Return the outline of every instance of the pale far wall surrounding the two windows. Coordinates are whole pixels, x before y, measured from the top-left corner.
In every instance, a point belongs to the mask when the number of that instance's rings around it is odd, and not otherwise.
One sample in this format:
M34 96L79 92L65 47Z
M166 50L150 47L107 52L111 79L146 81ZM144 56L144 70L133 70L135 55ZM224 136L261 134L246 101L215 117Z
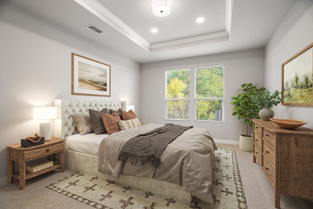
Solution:
M165 70L224 64L224 123L165 120ZM175 123L206 128L214 139L238 143L239 132L245 131L243 120L232 116L230 97L236 96L243 83L264 83L264 49L191 57L141 65L141 121L143 123ZM192 81L191 81L192 82ZM251 133L250 129L250 133Z

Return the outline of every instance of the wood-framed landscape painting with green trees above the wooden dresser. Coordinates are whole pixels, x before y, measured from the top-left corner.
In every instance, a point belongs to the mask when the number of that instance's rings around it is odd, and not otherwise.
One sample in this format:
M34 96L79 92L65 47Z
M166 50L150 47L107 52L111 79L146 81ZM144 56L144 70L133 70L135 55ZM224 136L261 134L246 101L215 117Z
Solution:
M282 105L313 106L313 43L282 64Z

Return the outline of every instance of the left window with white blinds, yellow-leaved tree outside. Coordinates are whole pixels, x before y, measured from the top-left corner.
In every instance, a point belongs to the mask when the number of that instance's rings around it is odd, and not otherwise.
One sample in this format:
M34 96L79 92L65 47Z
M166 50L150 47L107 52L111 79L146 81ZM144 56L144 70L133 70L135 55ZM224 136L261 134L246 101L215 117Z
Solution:
M165 119L189 120L190 70L165 72Z

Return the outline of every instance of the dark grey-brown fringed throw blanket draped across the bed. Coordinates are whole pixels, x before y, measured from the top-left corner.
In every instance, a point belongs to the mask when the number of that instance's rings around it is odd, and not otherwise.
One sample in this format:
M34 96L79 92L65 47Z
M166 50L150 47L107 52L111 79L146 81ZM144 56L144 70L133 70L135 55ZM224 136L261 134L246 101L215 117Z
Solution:
M144 134L129 139L118 155L118 161L131 162L134 165L150 164L156 168L161 166L161 155L167 145L178 138L184 131L193 126L180 126L167 123Z

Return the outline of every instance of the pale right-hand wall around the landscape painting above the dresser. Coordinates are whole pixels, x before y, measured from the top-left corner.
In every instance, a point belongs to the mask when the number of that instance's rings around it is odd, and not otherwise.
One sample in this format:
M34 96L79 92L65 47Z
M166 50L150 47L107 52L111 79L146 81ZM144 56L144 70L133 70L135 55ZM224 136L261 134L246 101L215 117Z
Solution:
M298 0L271 37L265 50L265 87L281 91L281 64L313 42L313 0ZM313 128L313 106L278 105L276 118L301 119Z

